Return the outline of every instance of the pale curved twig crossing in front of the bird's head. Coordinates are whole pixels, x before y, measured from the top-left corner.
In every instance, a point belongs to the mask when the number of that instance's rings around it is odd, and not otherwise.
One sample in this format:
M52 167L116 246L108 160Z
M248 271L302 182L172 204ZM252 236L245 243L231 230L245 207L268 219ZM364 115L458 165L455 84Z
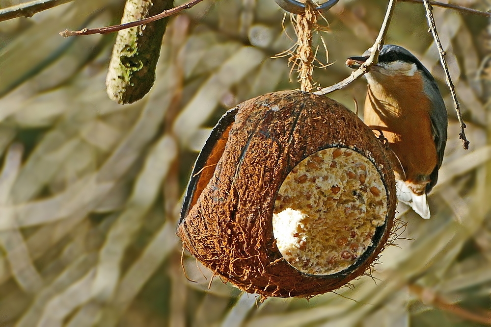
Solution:
M373 46L370 48L370 56L368 59L358 68L353 72L350 76L347 78L343 79L342 81L331 85L327 86L319 91L314 92L315 94L327 94L339 89L342 89L346 87L348 84L352 83L356 79L360 78L361 76L365 75L368 71L370 71L370 68L377 64L379 60L379 53L380 50L382 49L383 42L385 40L385 35L387 34L387 29L390 24L390 20L392 18L392 13L394 12L394 7L395 7L396 0L390 0L389 4L387 6L387 11L385 12L385 17L383 18L383 23L380 28L379 35L377 36L377 39L375 40L375 43Z

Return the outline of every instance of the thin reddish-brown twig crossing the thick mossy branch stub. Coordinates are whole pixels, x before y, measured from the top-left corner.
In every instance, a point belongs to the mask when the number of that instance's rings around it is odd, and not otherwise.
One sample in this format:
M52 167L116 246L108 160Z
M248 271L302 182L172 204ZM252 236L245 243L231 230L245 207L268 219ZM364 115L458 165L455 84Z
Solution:
M145 25L149 24L155 21L158 21L159 19L165 18L172 16L174 14L177 14L184 9L189 9L192 6L198 4L202 0L191 0L189 2L186 2L184 4L181 4L180 6L174 7L169 10L165 10L161 12L158 15L151 16L136 22L130 22L130 23L125 23L125 24L120 24L120 25L112 25L112 26L107 26L107 27L100 27L100 28L83 28L80 31L69 31L65 29L63 32L60 32L60 35L63 37L68 37L68 36L78 36L78 35L90 35L90 34L109 34L109 33L114 33L122 29L126 28L131 28L139 25Z

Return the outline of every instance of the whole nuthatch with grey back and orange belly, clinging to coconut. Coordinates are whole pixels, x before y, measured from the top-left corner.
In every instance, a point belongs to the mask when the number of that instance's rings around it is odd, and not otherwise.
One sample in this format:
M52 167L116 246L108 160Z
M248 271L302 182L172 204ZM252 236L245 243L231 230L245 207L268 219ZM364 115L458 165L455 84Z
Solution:
M356 69L369 55L367 50L348 58L346 65ZM363 121L393 152L397 197L429 219L426 195L436 184L447 141L447 110L435 78L413 54L394 45L382 47L379 62L365 76Z

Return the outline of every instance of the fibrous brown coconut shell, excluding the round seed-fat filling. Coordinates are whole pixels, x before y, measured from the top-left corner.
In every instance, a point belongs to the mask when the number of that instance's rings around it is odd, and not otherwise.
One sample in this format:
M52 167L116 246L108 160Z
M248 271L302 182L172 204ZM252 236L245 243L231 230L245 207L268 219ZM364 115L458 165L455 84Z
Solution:
M266 297L311 297L362 275L385 246L397 204L390 162L372 130L340 103L300 91L247 100L227 117L195 167L177 231L183 246L223 280ZM388 214L363 262L335 276L313 276L300 273L278 251L273 207L290 171L330 147L355 149L376 163Z

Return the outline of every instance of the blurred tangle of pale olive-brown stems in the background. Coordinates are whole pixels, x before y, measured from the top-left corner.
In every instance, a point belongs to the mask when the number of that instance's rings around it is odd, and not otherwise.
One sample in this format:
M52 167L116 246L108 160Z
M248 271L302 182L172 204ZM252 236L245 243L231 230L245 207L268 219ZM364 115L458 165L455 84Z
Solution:
M182 2L176 2L180 4ZM0 0L0 8L22 1ZM487 10L489 0L454 0ZM387 1L341 0L326 18L314 80L348 74L373 43ZM483 326L491 324L491 25L436 8L470 150L443 81L422 5L399 2L386 43L436 76L450 116L432 218L407 223L372 277L336 293L259 303L184 255L175 235L198 151L237 103L298 87L294 32L273 0L204 0L172 17L151 92L110 101L114 35L58 32L117 24L123 0L75 0L0 23L0 326ZM319 36L314 37L320 45ZM330 96L354 110L365 83ZM361 114L361 113L360 113Z

